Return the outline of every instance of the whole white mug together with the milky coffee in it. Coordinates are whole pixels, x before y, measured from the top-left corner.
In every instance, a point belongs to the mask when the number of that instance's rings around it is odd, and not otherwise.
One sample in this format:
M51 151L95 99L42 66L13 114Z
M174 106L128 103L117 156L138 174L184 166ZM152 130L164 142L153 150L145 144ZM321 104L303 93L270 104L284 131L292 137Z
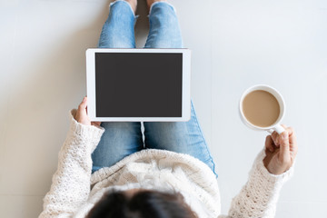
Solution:
M276 131L284 129L280 122L285 113L282 95L269 85L257 84L247 89L240 100L243 123L256 130Z

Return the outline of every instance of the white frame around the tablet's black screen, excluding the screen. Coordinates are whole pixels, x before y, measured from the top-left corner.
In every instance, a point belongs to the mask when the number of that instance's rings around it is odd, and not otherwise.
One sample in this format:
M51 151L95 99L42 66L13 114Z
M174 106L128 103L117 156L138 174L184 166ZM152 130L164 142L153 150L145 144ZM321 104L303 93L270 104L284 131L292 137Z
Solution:
M176 53L183 54L182 117L96 117L95 115L95 53ZM189 49L113 49L86 50L87 114L97 122L185 122L191 118L191 50Z

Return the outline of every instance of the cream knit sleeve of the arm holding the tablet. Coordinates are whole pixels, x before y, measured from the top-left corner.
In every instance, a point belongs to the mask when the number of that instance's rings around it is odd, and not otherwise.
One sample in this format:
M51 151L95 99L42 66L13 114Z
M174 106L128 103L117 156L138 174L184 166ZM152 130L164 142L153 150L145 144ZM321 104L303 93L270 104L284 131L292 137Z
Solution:
M90 193L91 154L104 129L79 124L71 111L69 132L58 155L51 189L45 195L43 217L71 217Z

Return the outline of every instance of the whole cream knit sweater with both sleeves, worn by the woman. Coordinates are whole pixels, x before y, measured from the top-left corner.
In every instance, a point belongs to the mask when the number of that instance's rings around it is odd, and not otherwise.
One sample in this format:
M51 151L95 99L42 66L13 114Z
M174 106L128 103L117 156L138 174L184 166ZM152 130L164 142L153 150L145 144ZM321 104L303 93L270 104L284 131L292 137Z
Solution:
M77 123L74 113L41 218L85 217L105 192L134 188L180 192L201 218L274 217L282 184L293 171L292 167L286 173L272 175L263 165L264 153L260 153L248 182L224 216L215 175L205 163L187 154L147 149L91 174L91 154L104 129Z

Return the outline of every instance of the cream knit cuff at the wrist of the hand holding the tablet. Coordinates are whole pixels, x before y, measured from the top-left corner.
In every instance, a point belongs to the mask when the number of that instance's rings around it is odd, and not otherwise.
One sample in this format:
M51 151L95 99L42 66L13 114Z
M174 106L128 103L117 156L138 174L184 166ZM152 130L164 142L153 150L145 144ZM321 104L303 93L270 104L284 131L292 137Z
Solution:
M101 126L97 127L94 125L85 125L78 123L74 119L76 111L76 109L73 109L69 112L71 119L70 132L71 134L76 135L81 140L93 144L92 151L94 151L96 145L100 142L102 134L104 134L104 128Z

